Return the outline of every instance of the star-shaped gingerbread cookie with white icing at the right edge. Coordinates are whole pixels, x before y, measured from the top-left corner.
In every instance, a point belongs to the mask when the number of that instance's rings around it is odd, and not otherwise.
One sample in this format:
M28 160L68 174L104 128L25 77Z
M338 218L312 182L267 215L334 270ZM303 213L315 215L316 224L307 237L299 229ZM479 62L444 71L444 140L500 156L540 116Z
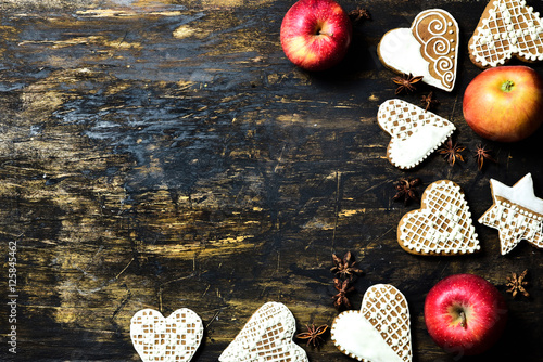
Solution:
M479 222L500 231L501 253L509 253L521 240L543 248L543 199L535 197L531 173L512 188L490 180L494 204Z

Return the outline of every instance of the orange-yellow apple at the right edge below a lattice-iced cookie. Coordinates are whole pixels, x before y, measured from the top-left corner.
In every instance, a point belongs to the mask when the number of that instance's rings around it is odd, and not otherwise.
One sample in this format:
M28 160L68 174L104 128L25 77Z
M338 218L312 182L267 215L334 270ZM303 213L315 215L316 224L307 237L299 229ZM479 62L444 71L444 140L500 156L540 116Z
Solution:
M463 108L469 127L482 138L520 141L543 122L543 79L522 65L487 69L466 88Z

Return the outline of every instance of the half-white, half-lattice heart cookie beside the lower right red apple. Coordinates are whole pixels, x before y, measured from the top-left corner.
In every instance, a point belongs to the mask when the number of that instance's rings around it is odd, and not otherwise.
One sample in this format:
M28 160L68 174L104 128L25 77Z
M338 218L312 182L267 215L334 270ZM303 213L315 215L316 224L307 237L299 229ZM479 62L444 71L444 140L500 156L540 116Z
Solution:
M409 362L413 358L407 300L390 284L369 287L361 310L339 314L330 333L336 347L358 361Z

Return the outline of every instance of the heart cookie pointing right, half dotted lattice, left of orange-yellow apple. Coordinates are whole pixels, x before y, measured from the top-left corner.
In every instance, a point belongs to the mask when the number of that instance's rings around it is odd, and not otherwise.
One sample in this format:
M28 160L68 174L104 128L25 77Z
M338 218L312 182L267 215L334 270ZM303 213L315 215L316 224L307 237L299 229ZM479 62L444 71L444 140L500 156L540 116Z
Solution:
M402 169L420 164L455 130L445 118L397 99L379 106L377 120L391 135L387 148L389 160Z

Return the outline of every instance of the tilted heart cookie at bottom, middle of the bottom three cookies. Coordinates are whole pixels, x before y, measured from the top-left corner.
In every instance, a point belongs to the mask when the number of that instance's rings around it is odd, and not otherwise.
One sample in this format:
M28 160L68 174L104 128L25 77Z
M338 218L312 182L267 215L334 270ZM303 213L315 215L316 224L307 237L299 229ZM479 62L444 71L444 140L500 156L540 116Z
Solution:
M295 320L279 302L262 306L223 351L220 362L307 362L305 351L292 341Z

